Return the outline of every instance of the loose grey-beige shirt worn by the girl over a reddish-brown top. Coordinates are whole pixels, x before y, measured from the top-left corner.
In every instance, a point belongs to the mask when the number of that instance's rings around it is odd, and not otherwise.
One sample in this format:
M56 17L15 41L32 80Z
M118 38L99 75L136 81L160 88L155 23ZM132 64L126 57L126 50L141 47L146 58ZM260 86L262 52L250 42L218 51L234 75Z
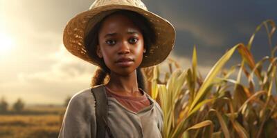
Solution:
M145 95L151 105L137 113L128 110L113 97L108 97L107 124L114 138L161 137L163 112L156 101L146 92ZM73 95L66 108L59 138L90 138L91 135L96 138L95 110L90 88Z

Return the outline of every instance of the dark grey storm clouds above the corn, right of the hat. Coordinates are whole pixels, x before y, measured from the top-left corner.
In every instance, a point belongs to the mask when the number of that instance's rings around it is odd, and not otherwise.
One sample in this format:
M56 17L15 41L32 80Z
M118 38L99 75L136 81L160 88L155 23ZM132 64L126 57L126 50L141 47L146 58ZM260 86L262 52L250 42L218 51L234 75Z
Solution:
M277 1L145 1L148 9L177 28L174 52L192 56L197 45L200 64L211 65L235 44L247 43L262 21L277 21ZM269 55L267 35L261 30L251 50L256 60ZM235 61L239 55L233 57Z

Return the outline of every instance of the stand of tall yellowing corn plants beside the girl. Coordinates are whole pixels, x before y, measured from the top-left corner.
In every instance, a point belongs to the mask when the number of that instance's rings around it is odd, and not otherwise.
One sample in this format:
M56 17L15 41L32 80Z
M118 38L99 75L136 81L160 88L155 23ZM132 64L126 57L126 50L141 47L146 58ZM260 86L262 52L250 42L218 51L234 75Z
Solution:
M256 62L251 46L262 27L267 31L271 55ZM274 21L262 22L249 43L228 50L205 79L197 70L196 48L191 68L182 70L170 59L170 71L163 73L163 80L159 66L145 68L150 95L163 110L163 137L277 137L277 98L272 95L274 86L277 91L277 46L271 42L275 30ZM224 68L235 51L240 53L241 63ZM247 78L247 85L242 77Z

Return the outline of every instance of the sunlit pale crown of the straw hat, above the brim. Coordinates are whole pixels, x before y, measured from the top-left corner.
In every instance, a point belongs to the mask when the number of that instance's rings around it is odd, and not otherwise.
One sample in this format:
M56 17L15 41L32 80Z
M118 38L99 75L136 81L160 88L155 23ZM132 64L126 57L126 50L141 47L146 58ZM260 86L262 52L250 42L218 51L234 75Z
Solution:
M143 10L148 10L141 0L96 0L91 4L89 10L110 5L134 6Z

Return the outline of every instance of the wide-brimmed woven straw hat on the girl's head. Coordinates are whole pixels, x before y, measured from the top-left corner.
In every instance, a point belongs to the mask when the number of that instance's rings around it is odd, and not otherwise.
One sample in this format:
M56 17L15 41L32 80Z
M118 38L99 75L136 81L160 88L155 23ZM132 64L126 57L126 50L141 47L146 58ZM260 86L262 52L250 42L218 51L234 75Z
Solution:
M84 59L96 66L100 61L91 59L84 46L84 38L91 28L108 14L116 10L131 10L143 15L150 22L156 35L156 42L150 46L150 50L143 56L141 67L154 66L161 63L172 50L175 43L175 28L172 24L149 12L141 0L96 0L89 10L77 14L67 23L64 29L64 46L73 55Z

